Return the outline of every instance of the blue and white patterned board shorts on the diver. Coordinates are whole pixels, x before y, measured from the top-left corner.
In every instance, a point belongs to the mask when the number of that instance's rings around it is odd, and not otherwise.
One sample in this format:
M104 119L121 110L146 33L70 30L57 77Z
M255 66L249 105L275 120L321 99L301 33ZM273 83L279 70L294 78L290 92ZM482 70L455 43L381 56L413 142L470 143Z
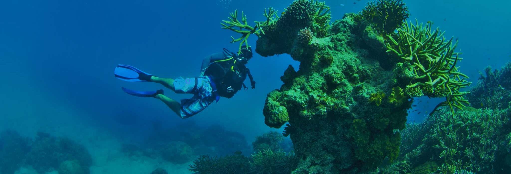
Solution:
M179 77L174 80L174 89L176 93L194 94L190 99L181 100L181 118L191 117L215 101L210 79L207 77Z

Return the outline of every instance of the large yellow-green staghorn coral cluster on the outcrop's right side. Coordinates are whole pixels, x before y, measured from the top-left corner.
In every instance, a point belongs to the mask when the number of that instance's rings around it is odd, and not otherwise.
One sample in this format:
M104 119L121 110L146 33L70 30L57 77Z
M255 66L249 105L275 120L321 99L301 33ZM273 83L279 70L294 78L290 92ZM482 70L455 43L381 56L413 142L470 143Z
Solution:
M461 60L455 53L457 41L452 45L453 38L446 42L444 32L437 28L431 31L431 24L412 24L405 21L396 34L387 35L387 53L409 62L415 78L407 85L405 91L410 96L446 97L446 102L439 106L462 109L467 100L460 89L470 85L465 79L468 76L459 72L456 63Z

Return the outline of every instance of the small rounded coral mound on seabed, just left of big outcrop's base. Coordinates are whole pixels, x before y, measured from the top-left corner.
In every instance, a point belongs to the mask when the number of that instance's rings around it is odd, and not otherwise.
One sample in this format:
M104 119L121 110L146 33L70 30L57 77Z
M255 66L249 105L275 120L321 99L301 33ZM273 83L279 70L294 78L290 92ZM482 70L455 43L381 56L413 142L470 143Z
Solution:
M284 141L284 136L282 136L282 134L271 131L255 137L255 141L252 142L252 148L254 152L260 152L263 150L277 152L282 149L282 141Z

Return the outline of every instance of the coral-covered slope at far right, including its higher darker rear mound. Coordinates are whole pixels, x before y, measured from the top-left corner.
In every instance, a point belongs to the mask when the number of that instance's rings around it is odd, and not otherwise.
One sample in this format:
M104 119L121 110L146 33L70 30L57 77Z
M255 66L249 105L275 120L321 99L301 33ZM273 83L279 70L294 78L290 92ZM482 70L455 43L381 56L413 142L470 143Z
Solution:
M400 159L413 173L507 173L511 170L511 107L504 88L511 63L485 69L468 94L474 107L444 108L401 131ZM502 96L504 94L504 96ZM508 96L508 95L507 95Z

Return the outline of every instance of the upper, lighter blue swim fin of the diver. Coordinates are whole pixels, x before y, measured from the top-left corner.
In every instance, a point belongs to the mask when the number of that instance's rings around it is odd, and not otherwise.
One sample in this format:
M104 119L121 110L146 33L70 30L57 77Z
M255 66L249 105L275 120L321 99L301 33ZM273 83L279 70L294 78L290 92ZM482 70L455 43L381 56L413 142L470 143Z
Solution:
M149 82L151 81L150 73L144 72L130 65L119 64L113 70L115 78L128 82Z

